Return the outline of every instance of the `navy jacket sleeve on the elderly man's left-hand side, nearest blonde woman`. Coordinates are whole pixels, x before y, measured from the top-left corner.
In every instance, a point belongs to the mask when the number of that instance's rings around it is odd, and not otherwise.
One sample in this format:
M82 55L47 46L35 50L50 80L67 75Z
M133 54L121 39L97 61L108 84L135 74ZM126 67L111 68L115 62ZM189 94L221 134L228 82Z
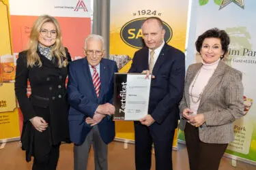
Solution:
M98 107L98 103L91 102L87 96L82 95L79 92L78 82L80 80L77 77L79 74L76 73L75 67L76 65L71 64L68 71L68 101L71 107L79 110L79 112L85 114L85 116L93 118Z

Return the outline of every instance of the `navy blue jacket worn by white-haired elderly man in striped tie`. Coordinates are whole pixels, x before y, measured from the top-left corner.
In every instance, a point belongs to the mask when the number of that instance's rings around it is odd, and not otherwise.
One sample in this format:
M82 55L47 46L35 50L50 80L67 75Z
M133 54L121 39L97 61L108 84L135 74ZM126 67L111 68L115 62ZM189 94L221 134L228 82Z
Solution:
M113 103L114 75L117 72L115 61L102 58L100 61L100 97L97 98L89 71L87 58L72 62L68 74L68 101L70 102L69 122L70 139L76 144L82 144L91 130L85 122L88 116L93 118L98 105ZM98 124L100 136L105 143L115 137L115 123L105 117Z

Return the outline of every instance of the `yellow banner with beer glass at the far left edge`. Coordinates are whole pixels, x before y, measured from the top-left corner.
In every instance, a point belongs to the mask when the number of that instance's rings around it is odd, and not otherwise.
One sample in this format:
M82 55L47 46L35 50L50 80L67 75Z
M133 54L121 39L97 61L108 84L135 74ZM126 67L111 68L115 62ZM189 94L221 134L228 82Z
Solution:
M0 141L20 136L14 92L15 66L7 0L0 1Z

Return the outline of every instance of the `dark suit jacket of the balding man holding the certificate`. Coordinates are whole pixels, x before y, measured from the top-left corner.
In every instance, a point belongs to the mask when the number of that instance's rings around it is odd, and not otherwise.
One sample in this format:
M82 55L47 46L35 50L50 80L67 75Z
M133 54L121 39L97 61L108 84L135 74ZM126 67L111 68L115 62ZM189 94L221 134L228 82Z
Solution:
M129 73L141 73L149 69L149 50L135 52ZM184 53L172 46L163 46L154 65L150 88L149 114L156 120L155 129L175 129L180 119L178 105L182 99L185 77Z

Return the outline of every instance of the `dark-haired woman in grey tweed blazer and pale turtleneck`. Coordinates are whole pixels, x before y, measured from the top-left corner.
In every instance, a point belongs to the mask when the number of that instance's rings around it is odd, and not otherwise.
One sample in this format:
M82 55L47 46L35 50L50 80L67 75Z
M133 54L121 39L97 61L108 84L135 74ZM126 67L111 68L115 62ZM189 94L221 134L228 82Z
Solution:
M190 169L216 170L227 144L233 141L232 122L244 115L242 73L223 63L229 36L210 29L195 43L202 62L186 72L180 103Z

